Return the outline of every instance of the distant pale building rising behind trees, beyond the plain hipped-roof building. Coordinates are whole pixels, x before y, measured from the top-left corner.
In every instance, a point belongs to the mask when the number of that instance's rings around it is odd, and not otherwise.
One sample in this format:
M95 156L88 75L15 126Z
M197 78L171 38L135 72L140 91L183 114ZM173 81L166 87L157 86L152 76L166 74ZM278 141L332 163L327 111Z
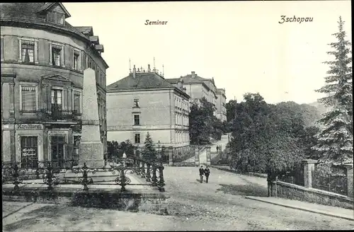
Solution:
M225 105L222 104L226 102L225 90L221 88L218 89L215 86L213 78L205 79L198 76L198 74L195 74L195 71L192 71L191 74L181 76L179 79L166 79L166 81L169 81L169 83L174 85L177 85L179 80L183 81L185 91L190 95L190 102L206 98L207 101L212 103L215 107L214 115L220 120L226 120L226 116L222 116L223 112L225 112L226 115Z

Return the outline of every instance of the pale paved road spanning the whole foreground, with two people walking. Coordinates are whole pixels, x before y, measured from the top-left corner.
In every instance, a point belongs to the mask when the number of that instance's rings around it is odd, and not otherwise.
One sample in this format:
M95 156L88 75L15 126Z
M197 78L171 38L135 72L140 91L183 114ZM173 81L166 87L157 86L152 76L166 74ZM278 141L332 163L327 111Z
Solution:
M266 196L264 178L211 168L210 182L198 182L198 168L164 170L169 216L55 204L30 204L9 216L3 202L3 231L192 231L343 230L354 222L244 199ZM3 216L3 217L4 217Z

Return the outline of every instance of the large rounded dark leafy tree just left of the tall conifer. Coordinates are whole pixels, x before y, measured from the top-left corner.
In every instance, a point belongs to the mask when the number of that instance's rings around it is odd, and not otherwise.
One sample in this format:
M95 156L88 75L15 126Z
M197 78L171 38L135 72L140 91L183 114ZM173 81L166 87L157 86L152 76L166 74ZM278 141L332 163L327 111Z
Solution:
M281 173L312 155L316 127L305 127L301 105L272 105L259 93L246 93L236 108L228 144L232 166L243 172Z

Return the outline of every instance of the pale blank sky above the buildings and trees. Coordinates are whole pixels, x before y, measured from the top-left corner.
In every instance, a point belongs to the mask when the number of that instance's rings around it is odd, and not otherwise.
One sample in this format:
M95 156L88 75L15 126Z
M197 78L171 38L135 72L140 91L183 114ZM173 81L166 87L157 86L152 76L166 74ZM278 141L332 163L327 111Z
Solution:
M324 85L328 45L336 42L339 16L351 42L350 1L198 1L63 3L67 22L93 27L110 66L107 84L135 64L164 77L214 78L227 101L260 93L267 103L313 103ZM285 18L312 18L282 22ZM146 21L166 25L145 25ZM131 60L131 62L130 62Z

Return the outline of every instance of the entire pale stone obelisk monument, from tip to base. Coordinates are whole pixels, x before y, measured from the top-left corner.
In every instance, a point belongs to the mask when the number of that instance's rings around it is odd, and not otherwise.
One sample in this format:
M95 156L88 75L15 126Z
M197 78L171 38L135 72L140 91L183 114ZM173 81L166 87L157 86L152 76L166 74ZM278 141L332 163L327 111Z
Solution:
M84 70L84 86L82 92L82 130L79 153L79 166L103 168L103 144L100 133L96 75L93 69Z

